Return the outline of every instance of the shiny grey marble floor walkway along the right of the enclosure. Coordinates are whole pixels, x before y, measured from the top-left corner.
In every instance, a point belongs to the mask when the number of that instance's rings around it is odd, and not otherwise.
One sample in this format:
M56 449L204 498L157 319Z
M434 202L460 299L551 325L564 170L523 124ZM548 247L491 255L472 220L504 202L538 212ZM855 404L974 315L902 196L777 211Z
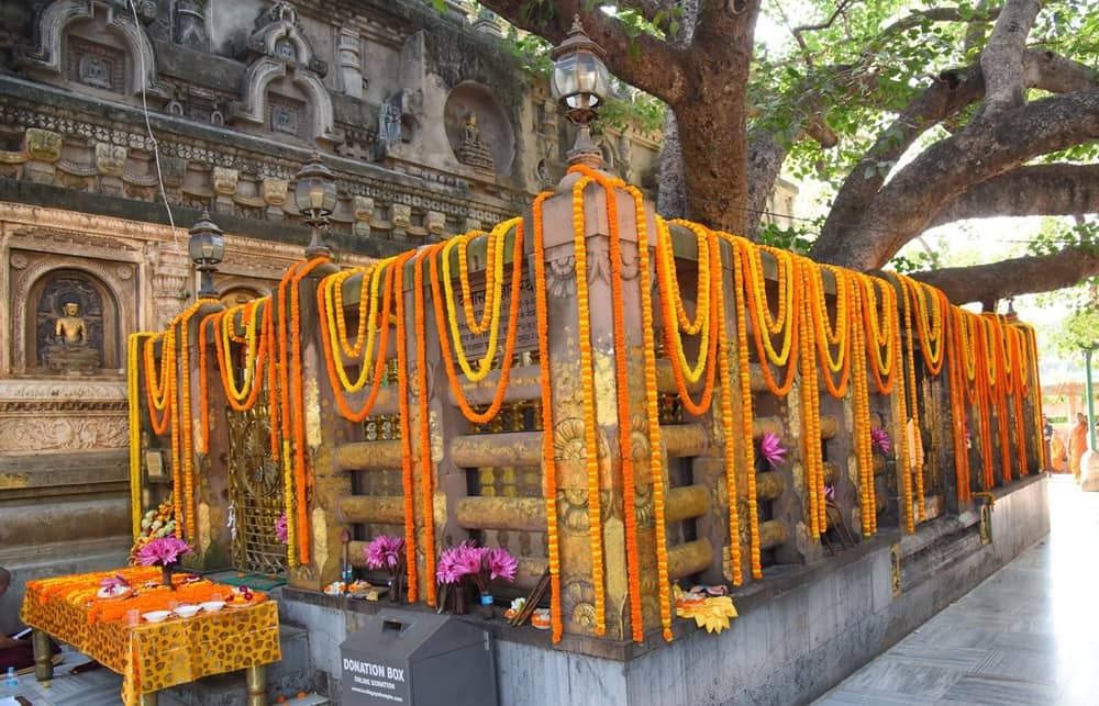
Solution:
M1048 537L819 706L1099 706L1099 493L1050 484Z

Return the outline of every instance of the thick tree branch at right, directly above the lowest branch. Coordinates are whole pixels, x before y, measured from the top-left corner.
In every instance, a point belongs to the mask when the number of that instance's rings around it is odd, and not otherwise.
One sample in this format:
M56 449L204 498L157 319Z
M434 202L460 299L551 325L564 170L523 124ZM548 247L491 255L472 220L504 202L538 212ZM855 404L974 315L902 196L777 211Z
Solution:
M1099 165L1019 167L969 189L929 227L993 216L1099 213Z

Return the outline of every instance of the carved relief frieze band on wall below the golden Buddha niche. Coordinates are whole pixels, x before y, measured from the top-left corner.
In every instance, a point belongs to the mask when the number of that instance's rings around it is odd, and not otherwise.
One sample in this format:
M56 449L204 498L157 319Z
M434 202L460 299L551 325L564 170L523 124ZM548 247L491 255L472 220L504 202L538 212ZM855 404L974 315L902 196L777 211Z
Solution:
M129 440L124 415L0 419L0 447L7 452L123 448Z

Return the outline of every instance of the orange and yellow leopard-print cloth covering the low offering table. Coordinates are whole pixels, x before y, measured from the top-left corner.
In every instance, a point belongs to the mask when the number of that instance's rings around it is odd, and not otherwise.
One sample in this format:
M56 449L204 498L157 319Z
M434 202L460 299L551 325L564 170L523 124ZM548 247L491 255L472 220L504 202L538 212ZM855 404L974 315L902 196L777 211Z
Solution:
M96 598L100 579L122 574L138 591L144 581L159 579L159 568L134 568L93 574L27 582L21 618L26 625L68 642L108 669L122 674L122 701L137 703L142 693L155 692L202 676L258 666L282 658L278 641L278 604L253 592L245 608L223 608L191 618L126 625L125 616L89 618L106 603L124 605L134 598ZM178 583L178 581L176 582ZM209 584L209 582L206 582ZM217 584L213 584L217 585ZM224 594L232 586L221 586ZM89 593L90 591L90 593ZM187 587L163 593L169 601L186 595ZM153 609L145 607L144 610Z

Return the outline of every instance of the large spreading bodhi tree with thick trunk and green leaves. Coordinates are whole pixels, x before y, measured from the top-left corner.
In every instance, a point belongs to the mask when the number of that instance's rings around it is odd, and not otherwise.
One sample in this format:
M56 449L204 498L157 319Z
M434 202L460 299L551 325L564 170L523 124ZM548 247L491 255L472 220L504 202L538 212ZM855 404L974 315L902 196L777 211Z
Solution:
M966 218L1064 215L1089 226L1099 1L942 1L480 3L555 44L579 15L608 68L670 109L665 215L757 238L779 172L812 175L832 199L810 255L859 270ZM758 41L761 12L792 38L785 48ZM1099 274L1094 232L914 276L958 303L1058 289Z

